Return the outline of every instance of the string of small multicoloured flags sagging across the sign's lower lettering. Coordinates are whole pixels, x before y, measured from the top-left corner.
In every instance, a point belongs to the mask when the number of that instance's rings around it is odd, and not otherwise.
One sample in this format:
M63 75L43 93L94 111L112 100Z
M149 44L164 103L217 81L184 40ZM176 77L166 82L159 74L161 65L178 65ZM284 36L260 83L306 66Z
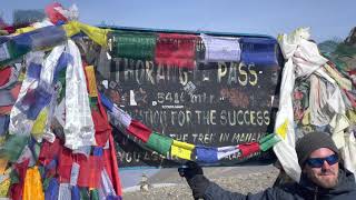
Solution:
M116 114L112 114L113 119L110 118L111 122L118 120L122 123L122 116L126 116L126 119L131 120L129 114L113 106L112 102L109 99L107 99L103 93L100 93L100 96L102 97L102 99L106 99L106 107L111 108L112 111L110 111L110 113L116 112ZM174 140L167 136L162 136L155 131L151 132L149 128L147 128L138 120L131 120L131 123L129 124L129 128L127 128L127 131L132 136L139 138L141 141L144 141L145 146L148 149L157 151L161 156L167 156L167 152L170 148L171 157L178 157L186 160L197 160L198 162L206 163L217 162L218 160L237 153L239 151L241 153L241 158L245 158L260 150L267 151L275 143L280 141L280 139L274 133L267 134L259 142L250 142L239 146L228 146L219 148L204 146L196 147L191 143Z

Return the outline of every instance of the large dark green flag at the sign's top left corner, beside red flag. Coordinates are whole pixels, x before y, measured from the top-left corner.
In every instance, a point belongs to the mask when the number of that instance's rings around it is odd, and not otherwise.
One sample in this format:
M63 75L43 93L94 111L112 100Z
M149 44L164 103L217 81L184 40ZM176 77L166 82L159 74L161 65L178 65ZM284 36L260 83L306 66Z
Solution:
M145 32L112 32L112 56L137 60L154 60L157 36Z

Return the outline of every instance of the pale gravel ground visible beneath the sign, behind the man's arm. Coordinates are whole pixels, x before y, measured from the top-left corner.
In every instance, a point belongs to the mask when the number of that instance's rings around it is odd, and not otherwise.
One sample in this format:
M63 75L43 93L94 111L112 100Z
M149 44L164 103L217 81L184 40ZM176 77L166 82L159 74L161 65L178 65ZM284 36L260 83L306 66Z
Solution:
M229 191L238 191L245 194L248 192L255 193L271 187L278 176L278 170L270 166L255 168L205 168L204 171L210 181L218 183ZM159 173L148 180L151 186L148 191L140 191L139 189L136 191L123 190L123 199L192 199L191 190L186 180L176 174L176 169Z

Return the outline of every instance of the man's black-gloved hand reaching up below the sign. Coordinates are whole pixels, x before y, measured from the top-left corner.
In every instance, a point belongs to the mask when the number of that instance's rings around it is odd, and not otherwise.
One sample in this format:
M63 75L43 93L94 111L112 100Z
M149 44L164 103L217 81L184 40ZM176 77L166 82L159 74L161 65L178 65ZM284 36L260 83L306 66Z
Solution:
M202 169L196 162L188 161L185 168L178 169L179 174L185 177L195 199L204 198L204 193L209 186L209 180L204 177Z

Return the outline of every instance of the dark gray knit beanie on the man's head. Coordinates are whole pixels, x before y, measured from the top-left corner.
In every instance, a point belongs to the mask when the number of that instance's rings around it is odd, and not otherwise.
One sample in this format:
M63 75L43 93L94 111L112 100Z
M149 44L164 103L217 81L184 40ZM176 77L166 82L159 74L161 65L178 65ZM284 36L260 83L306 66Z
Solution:
M339 154L335 142L327 132L310 132L296 143L299 166L303 168L310 153L319 148L328 148Z

